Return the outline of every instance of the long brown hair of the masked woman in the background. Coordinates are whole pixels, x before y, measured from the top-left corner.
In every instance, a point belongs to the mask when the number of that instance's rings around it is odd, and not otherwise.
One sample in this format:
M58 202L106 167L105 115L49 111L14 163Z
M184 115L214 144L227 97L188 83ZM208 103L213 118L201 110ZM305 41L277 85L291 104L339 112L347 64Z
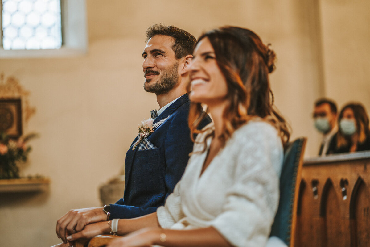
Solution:
M367 116L365 107L361 103L351 102L343 106L338 117L338 126L340 120L343 119L344 110L347 108L352 109L354 118L356 121L357 130L356 133L359 135L359 143L364 143L370 138L370 128L369 128L369 117ZM348 146L351 143L351 136L346 136L343 134L342 130L338 130L337 134L337 148Z

